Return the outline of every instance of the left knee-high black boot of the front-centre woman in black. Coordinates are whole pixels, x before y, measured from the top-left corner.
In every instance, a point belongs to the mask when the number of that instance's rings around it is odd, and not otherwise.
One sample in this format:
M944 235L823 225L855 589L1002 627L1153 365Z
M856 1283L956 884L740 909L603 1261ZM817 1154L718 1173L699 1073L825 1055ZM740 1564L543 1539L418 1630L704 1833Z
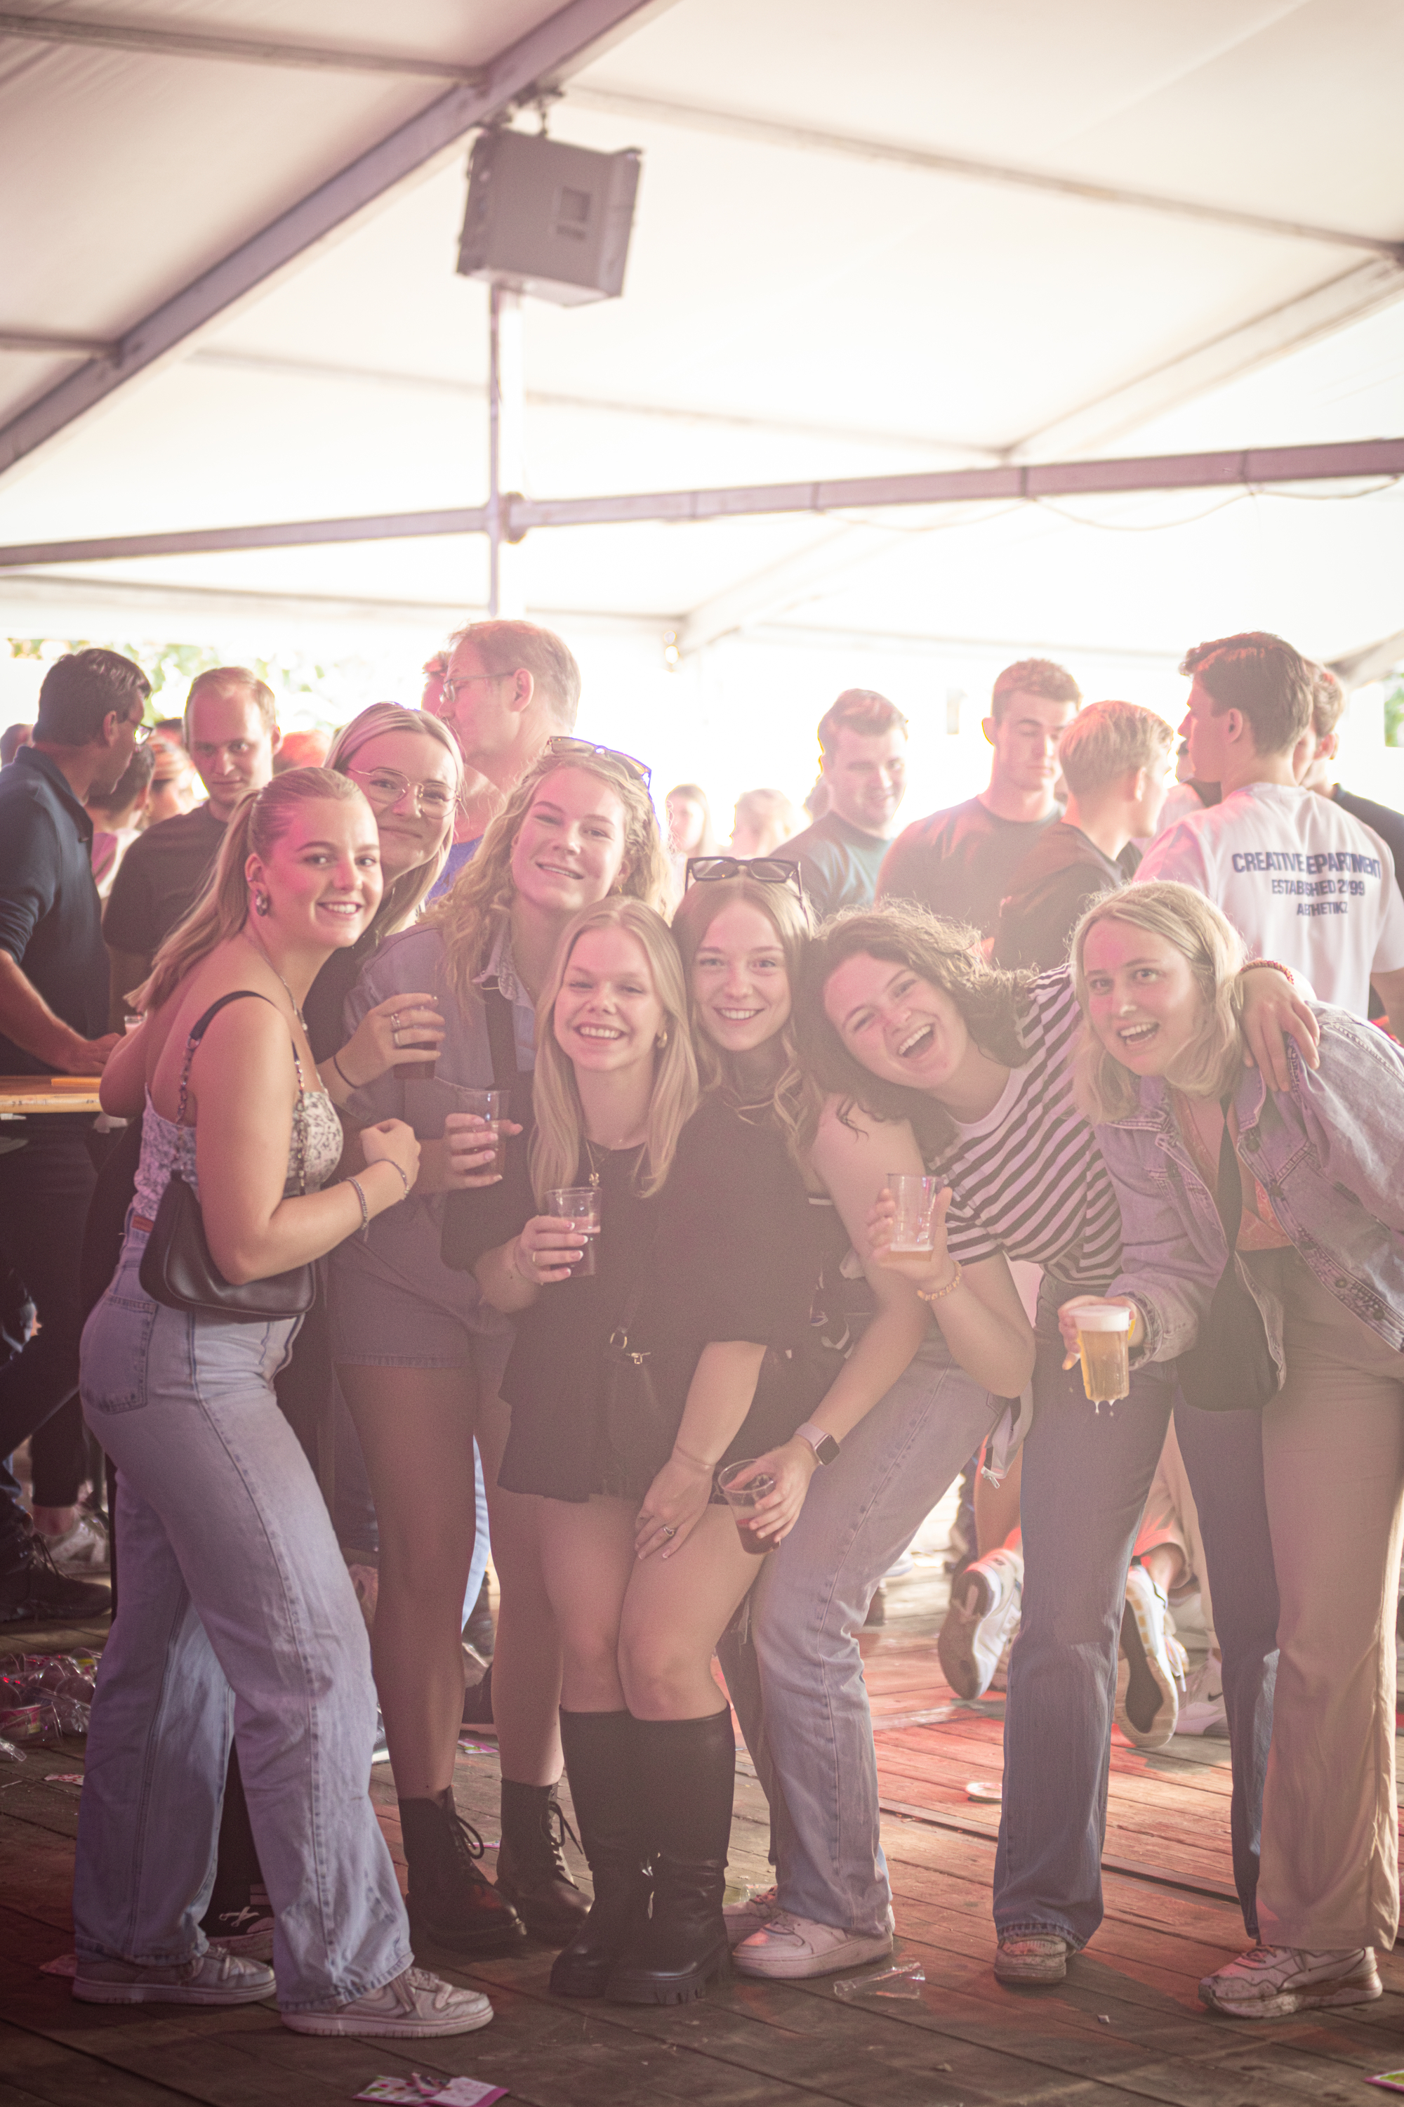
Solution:
M629 1713L560 1715L570 1799L596 1898L585 1924L556 1955L558 1997L602 1997L623 1947L648 1917L638 1721Z

